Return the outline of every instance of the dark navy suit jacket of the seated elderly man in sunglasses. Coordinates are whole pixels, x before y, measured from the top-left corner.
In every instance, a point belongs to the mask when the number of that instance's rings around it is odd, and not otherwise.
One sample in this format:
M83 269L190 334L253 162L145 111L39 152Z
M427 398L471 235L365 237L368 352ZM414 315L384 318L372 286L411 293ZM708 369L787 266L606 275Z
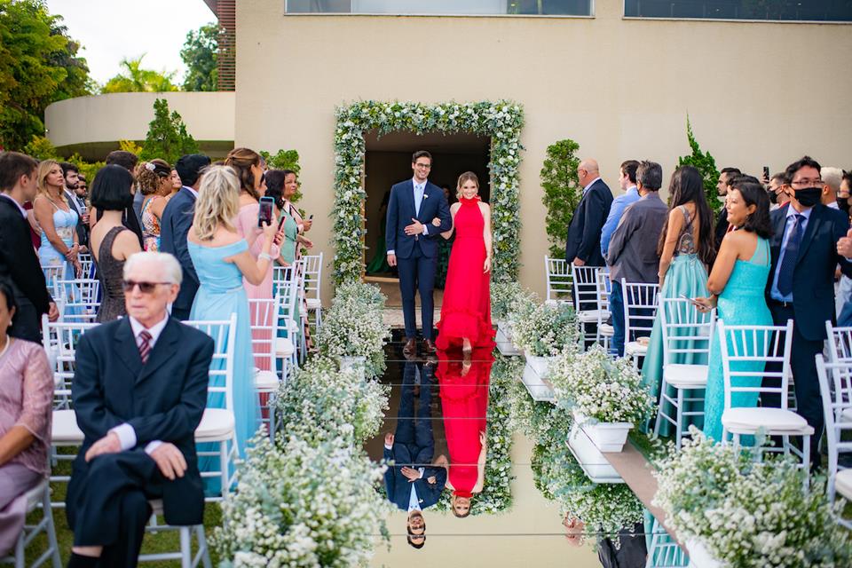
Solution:
M184 454L184 477L162 477L162 505L170 525L198 525L204 490L195 454L195 429L207 404L213 340L203 332L169 319L145 365L139 358L130 319L94 327L80 339L71 396L77 425L85 439L74 461L67 506L75 509L90 464L91 445L127 422L144 452L154 440L170 442ZM97 460L97 458L95 458ZM69 510L73 516L73 510Z

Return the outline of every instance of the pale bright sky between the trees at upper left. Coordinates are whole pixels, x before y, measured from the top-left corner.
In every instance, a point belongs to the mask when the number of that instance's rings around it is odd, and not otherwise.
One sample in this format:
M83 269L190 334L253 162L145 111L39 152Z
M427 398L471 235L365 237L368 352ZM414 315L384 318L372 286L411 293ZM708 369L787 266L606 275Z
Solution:
M47 0L47 6L82 43L79 55L100 84L121 72L122 59L143 53L143 67L177 71L175 82L181 83L186 34L216 20L203 0Z

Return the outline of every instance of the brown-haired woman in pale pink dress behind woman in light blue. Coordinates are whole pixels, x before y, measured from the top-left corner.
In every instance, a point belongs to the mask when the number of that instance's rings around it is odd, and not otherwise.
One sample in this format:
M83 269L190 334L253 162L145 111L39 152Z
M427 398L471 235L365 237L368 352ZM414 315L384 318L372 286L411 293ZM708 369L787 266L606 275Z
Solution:
M260 154L248 148L234 148L225 158L225 165L231 166L237 172L237 177L240 178L240 212L233 219L233 226L236 227L237 233L248 242L248 250L251 255L258 258L263 254L264 240L257 237L263 234L263 229L257 226L257 211L260 209L260 196L264 193L264 167ZM272 245L272 258L278 258L280 251L278 244L280 243L281 235L275 238L275 244ZM257 286L251 284L245 278L242 279L242 285L246 288L246 296L249 303L251 300L271 300L272 299L272 263L269 264L269 270L266 272L264 281ZM256 326L272 325L272 311L265 314L251 310L251 337L253 341L271 339L269 332L263 329L255 329ZM265 317L264 316L268 316ZM271 349L272 343L261 343L264 349ZM270 353L258 352L260 345L253 347L255 355L255 367L262 371L274 371L270 368Z

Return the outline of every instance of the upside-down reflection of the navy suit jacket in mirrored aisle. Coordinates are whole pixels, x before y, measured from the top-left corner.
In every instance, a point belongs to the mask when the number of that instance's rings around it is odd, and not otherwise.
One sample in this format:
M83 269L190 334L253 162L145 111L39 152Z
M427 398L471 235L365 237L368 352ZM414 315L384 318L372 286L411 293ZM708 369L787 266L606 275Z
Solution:
M412 455L411 449L399 443L395 443L392 450L384 448L384 459L394 461L394 465L388 466L384 472L384 488L388 492L388 500L404 511L408 510L408 501L411 499L411 485L414 485L414 490L417 492L421 509L437 503L446 485L446 468L429 465L432 454L435 452L434 446L421 448L419 454L415 455ZM422 467L423 477L408 481L408 478L402 475L402 466L414 467L414 469ZM435 476L433 484L428 481L432 476Z

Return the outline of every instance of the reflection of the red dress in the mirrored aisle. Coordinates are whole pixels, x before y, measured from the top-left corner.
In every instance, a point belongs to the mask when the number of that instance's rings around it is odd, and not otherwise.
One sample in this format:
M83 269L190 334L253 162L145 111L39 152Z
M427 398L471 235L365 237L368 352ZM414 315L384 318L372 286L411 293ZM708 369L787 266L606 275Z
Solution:
M478 360L477 360L478 359ZM450 467L447 477L454 493L469 497L477 485L477 462L482 451L479 432L487 428L488 381L493 358L488 350L477 350L467 375L461 376L461 361L449 361L438 351L438 385L444 413L446 447Z

